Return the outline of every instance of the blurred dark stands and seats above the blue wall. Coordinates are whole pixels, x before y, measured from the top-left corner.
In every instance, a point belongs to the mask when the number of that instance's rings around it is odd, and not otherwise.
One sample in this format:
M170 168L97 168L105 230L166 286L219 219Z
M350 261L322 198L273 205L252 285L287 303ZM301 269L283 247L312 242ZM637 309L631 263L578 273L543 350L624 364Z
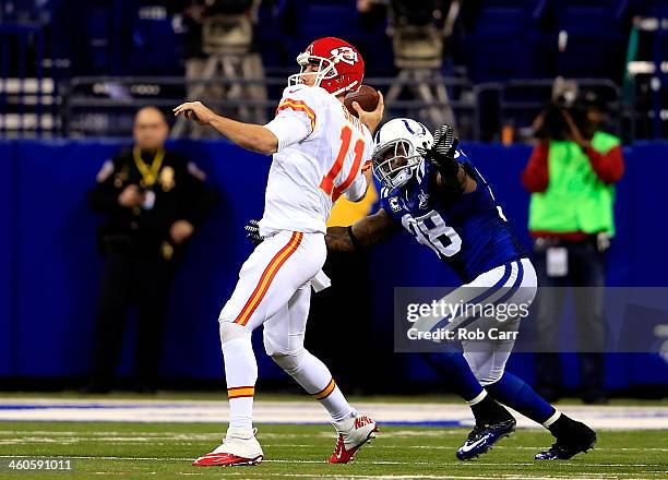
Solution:
M526 141L562 75L598 92L624 141L655 139L668 121L667 11L664 0L4 0L0 131L126 135L132 108L183 97L261 121L326 26L359 47L391 115Z

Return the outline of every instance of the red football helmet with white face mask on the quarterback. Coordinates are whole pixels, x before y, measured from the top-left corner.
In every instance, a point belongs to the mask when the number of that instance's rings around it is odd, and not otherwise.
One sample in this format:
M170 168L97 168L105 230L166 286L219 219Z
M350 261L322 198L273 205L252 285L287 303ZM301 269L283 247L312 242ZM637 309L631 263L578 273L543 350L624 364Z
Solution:
M315 75L314 85L332 95L359 89L365 77L365 61L357 48L336 37L314 40L297 56L297 63L301 70L289 76L290 85L302 83L305 75ZM318 67L318 70L306 72L309 65Z

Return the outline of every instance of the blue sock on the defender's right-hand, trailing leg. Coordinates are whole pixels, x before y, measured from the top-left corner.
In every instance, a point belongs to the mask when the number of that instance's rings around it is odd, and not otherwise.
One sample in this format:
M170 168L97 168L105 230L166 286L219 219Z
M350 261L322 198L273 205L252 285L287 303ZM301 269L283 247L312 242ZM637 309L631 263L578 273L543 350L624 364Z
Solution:
M491 385L485 387L496 399L517 410L523 416L535 422L544 424L550 419L557 409L548 404L524 380L503 372L503 376Z

